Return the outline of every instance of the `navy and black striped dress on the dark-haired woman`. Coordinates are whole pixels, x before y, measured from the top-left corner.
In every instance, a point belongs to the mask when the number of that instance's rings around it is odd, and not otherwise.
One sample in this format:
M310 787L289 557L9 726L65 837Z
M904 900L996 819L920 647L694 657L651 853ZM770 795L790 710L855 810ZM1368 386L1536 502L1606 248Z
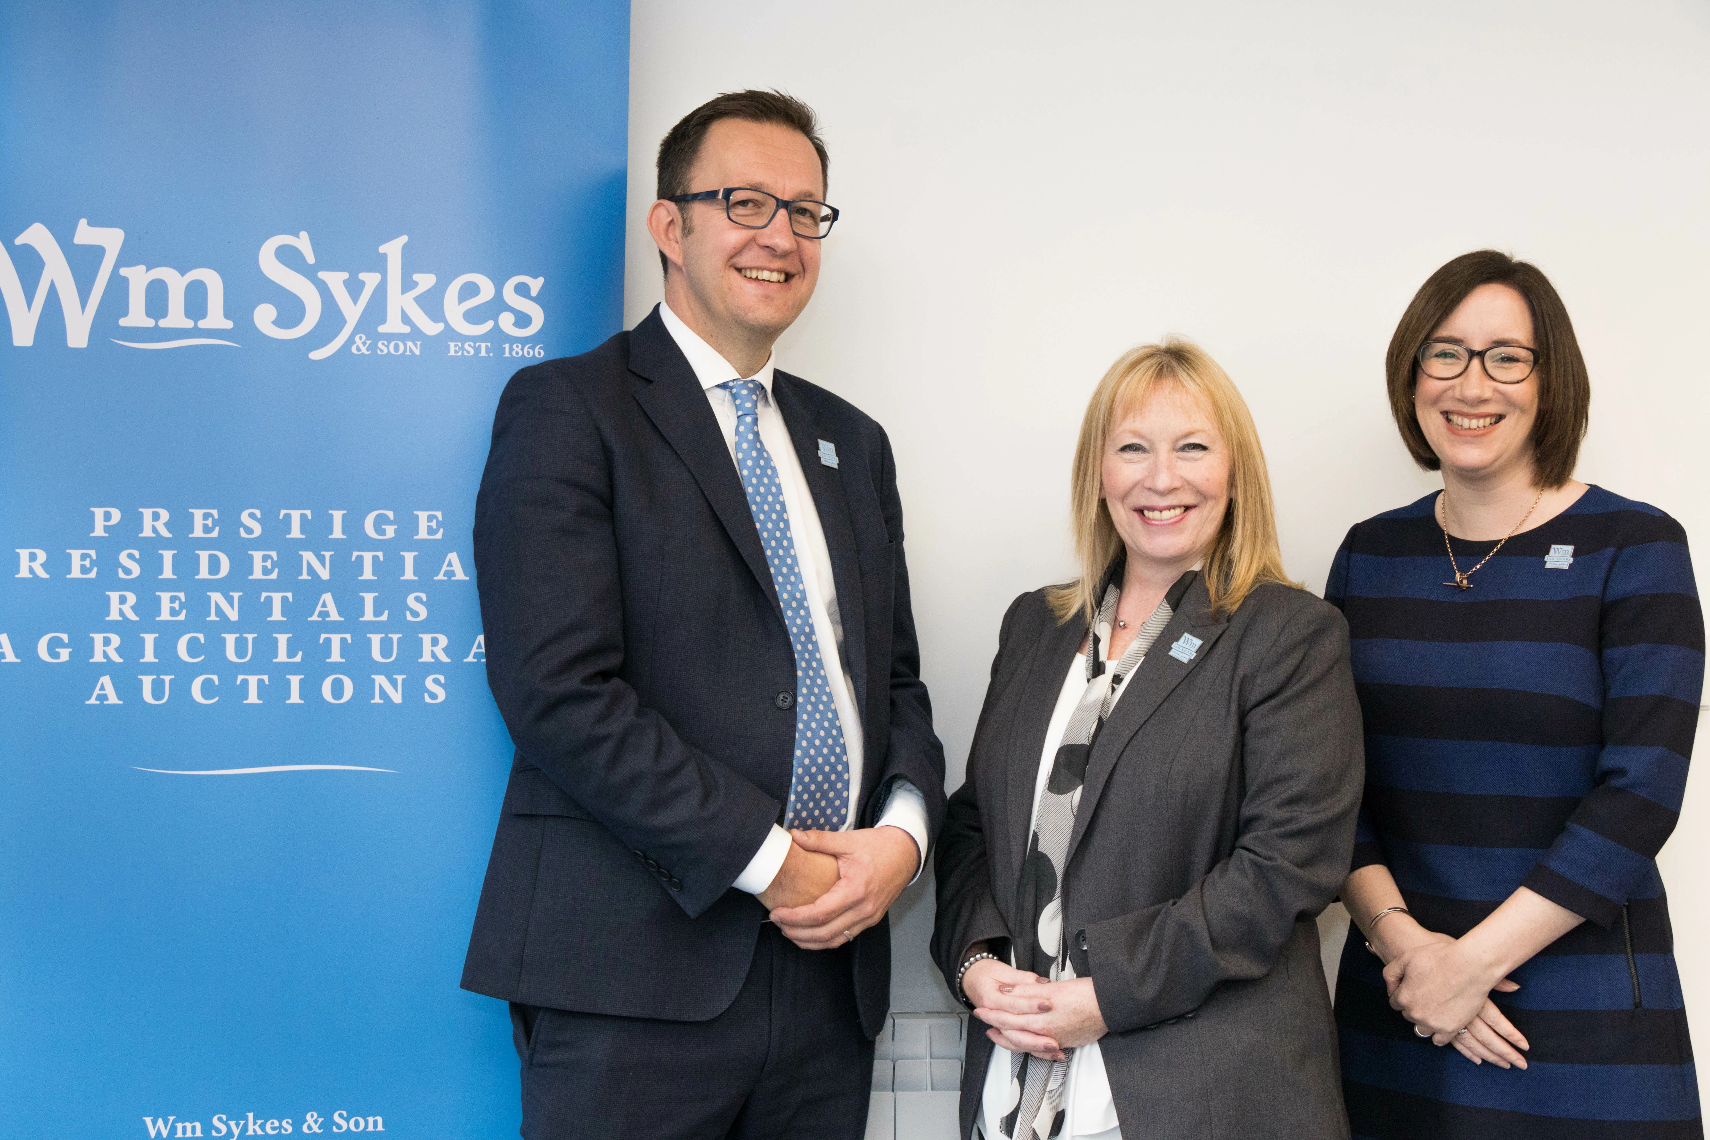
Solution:
M1359 523L1325 598L1366 728L1354 868L1462 935L1525 885L1585 923L1493 1000L1529 1070L1414 1037L1358 931L1336 986L1342 1089L1370 1140L1703 1137L1655 855L1686 788L1703 615L1686 533L1601 487L1454 581L1436 494ZM1462 569L1495 542L1455 540Z

